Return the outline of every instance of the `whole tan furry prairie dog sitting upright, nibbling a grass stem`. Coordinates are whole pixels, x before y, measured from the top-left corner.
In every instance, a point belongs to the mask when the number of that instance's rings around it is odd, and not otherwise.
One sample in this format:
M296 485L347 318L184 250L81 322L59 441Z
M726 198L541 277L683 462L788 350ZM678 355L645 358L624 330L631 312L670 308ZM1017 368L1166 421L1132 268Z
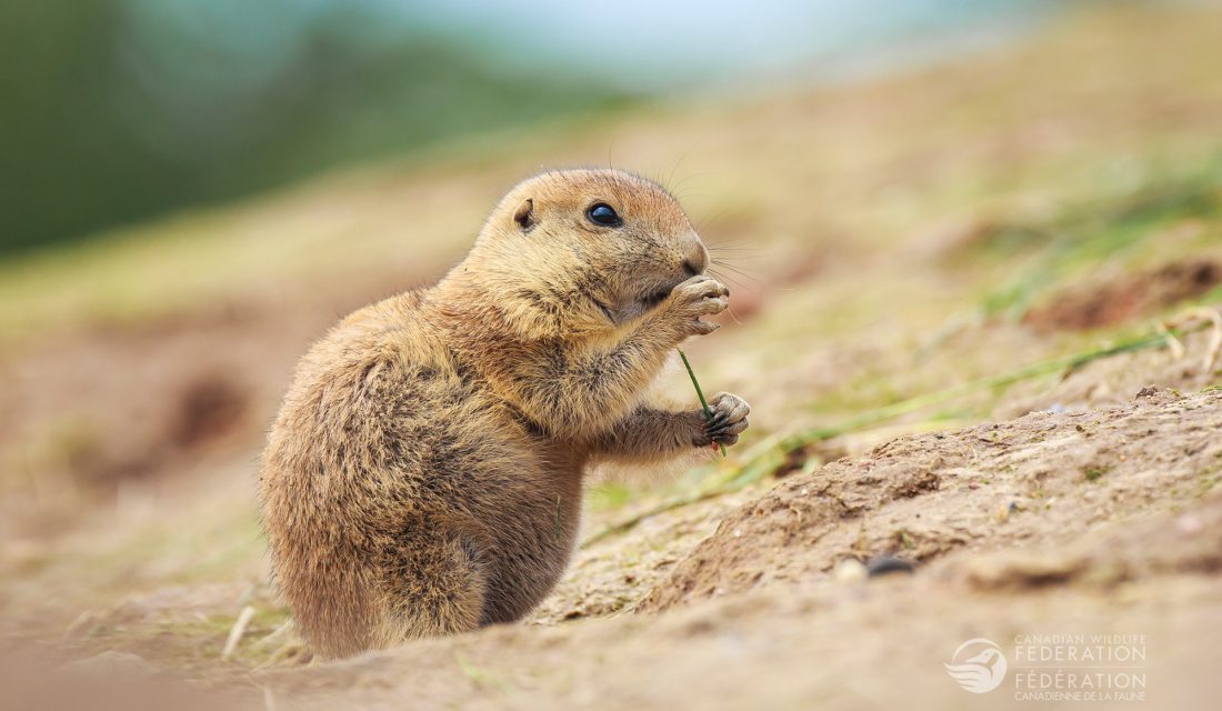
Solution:
M606 203L623 225L593 224ZM521 618L563 572L583 470L747 428L643 397L728 291L676 200L620 171L514 187L435 287L356 312L297 368L260 480L281 590L323 656Z

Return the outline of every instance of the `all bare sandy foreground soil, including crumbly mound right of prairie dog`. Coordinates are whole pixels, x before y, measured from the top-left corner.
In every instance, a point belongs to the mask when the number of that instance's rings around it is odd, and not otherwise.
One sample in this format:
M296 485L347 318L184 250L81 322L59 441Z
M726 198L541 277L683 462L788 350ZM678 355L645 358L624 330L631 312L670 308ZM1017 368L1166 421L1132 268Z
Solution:
M426 709L1002 707L1024 704L1020 689L976 698L946 677L959 643L984 636L1009 650L1018 635L1110 634L1141 636L1149 702L1202 707L1218 691L1209 672L1222 633L1220 426L1222 392L1151 388L1125 406L901 437L738 507L633 612L606 616L595 602L583 611L594 619L213 684L237 695L226 704L301 709L404 699ZM914 566L873 574L844 563L880 556ZM163 602L181 610L191 597ZM138 658L89 665L158 677ZM93 672L78 663L71 673Z

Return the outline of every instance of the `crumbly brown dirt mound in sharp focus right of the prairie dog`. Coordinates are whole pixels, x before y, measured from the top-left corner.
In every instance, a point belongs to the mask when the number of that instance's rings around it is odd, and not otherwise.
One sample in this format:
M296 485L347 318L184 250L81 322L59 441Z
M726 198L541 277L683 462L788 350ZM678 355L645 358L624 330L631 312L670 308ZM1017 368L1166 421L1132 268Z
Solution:
M1061 541L1222 481L1222 393L893 440L780 484L726 517L638 610L829 573L844 558Z

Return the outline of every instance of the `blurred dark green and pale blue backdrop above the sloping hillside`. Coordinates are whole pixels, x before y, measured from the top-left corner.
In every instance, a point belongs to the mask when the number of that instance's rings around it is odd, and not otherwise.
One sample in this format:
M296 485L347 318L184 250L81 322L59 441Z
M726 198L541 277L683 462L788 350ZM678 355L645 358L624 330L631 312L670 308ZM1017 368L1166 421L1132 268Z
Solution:
M0 0L0 258L472 133L954 51L1063 5Z

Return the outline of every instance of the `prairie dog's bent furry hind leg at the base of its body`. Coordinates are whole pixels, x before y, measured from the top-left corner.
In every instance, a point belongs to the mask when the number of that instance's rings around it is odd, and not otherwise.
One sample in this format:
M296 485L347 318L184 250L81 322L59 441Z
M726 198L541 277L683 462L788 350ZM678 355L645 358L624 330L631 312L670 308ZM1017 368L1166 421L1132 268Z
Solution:
M479 627L488 575L475 549L458 535L433 535L414 530L387 556L382 646Z

